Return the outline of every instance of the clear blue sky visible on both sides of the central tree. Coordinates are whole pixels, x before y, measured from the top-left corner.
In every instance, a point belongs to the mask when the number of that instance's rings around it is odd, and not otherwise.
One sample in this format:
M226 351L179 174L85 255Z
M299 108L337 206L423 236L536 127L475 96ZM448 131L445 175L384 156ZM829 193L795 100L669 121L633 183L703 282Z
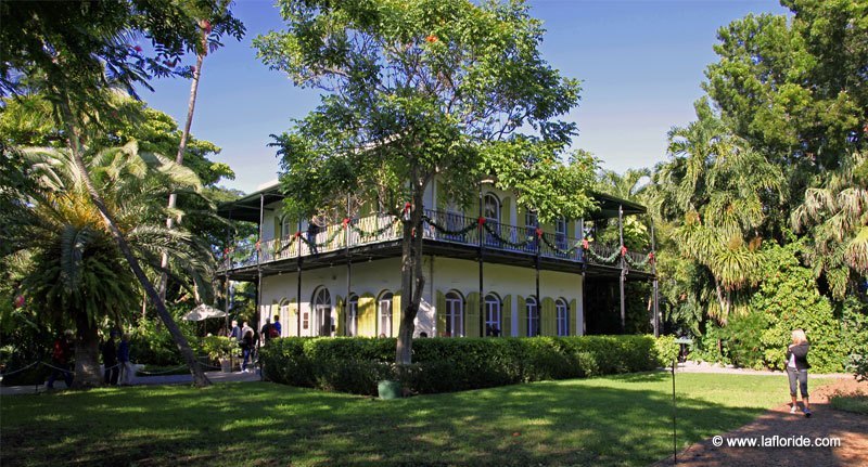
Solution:
M582 80L582 101L567 119L578 126L573 147L592 152L617 172L666 158L666 132L693 119L693 102L720 26L748 13L783 14L769 0L531 0L548 33L544 57ZM193 134L222 147L214 159L235 171L229 187L252 192L277 178L269 134L291 127L319 102L316 90L295 88L256 59L251 41L282 21L270 0L235 0L247 35L228 39L205 59ZM190 82L161 79L141 98L179 122Z

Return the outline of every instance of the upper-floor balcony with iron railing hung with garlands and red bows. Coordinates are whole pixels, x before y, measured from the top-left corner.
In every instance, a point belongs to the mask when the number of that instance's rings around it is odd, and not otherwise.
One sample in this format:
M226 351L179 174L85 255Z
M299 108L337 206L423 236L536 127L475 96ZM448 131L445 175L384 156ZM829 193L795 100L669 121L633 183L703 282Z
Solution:
M462 215L425 210L425 252L514 264L540 264L545 269L620 273L622 269L647 276L653 255L629 251L621 245L605 245L539 229L508 225ZM228 251L222 272L251 274L257 268L269 272L294 270L296 263L315 263L337 258L394 257L400 254L401 223L388 215L345 219L319 229L296 232L256 244L242 243ZM295 261L294 261L295 260ZM298 261L301 260L301 261Z

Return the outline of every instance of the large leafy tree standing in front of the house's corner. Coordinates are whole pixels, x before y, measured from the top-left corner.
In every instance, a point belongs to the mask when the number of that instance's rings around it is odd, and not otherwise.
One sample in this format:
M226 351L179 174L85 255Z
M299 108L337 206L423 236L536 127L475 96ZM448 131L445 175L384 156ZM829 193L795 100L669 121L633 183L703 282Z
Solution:
M411 360L424 287L422 195L467 205L483 178L514 190L542 220L577 218L592 160L558 154L575 133L561 121L579 87L539 54L542 28L521 1L292 1L286 29L254 46L321 104L276 137L285 210L343 216L347 195L379 200L403 221L401 313L396 362ZM442 183L441 183L442 182ZM566 194L570 196L566 196Z

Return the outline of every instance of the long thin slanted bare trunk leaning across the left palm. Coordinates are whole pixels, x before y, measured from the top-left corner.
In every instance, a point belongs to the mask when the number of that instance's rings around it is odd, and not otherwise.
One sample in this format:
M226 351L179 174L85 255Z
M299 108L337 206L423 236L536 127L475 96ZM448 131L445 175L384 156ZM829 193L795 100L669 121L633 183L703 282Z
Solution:
M132 250L130 249L127 239L124 238L123 232L120 232L120 229L118 229L117 224L115 224L111 213L108 212L108 209L105 207L102 196L93 186L93 181L90 179L90 173L88 173L87 166L85 166L85 161L81 158L81 140L78 134L77 119L73 114L72 105L69 103L69 95L65 92L65 90L60 90L59 95L61 96L60 107L63 115L63 125L66 127L65 129L69 139L73 161L75 163L75 167L79 177L81 177L81 180L85 182L85 186L87 187L91 202L100 211L103 223L117 243L120 254L124 255L124 258L126 258L130 269L132 270L132 273L136 275L136 278L138 278L142 287L144 287L145 295L156 307L159 319L163 321L163 324L166 325L166 328L169 330L173 340L175 340L175 343L178 346L178 350L180 350L181 355L183 355L184 360L187 361L187 365L190 367L190 374L193 376L193 384L197 387L210 385L210 381L205 376L205 373L202 372L202 367L199 366L199 362L196 361L195 355L193 355L193 350L187 342L187 338L183 336L183 334L181 334L181 329L178 328L175 320L171 319L168 310L166 310L166 304L159 299L159 294L157 294L156 288L154 288L153 284L151 284L151 281L149 281L148 276L144 274L144 271L142 271L139 261L132 255Z

